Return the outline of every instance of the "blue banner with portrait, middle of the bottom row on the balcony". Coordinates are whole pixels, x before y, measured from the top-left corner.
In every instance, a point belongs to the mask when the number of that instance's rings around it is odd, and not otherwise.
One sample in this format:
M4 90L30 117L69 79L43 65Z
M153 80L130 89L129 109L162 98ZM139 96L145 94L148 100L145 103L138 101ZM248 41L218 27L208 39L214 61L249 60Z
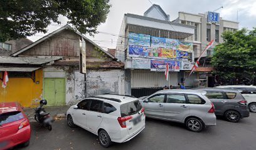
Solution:
M151 60L151 71L166 71L166 63L169 64L169 71L179 71L179 61Z

